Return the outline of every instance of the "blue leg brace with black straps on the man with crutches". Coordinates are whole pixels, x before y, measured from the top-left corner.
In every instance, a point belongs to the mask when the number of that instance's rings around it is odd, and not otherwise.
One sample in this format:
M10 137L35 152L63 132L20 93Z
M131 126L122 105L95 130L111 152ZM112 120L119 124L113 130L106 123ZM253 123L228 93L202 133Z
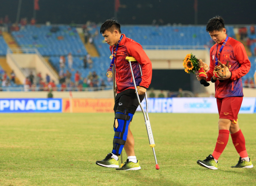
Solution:
M113 139L113 150L112 153L116 155L120 155L123 150L123 145L125 145L125 141L127 139L128 134L128 126L130 124L131 119L133 119L133 114L126 112L118 112L117 110L114 121L114 139ZM116 119L118 122L118 127L116 128Z

